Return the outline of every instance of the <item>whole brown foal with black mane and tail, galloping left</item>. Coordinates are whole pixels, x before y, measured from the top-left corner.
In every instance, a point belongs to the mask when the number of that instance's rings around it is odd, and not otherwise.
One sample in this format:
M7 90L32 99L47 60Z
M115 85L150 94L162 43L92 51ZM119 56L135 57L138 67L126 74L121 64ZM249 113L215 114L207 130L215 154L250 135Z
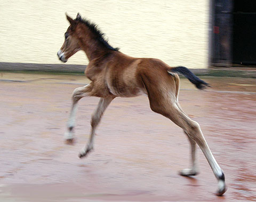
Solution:
M73 140L78 100L85 96L100 97L98 107L92 115L89 143L79 153L79 157L86 156L93 149L95 129L104 111L115 97L134 97L146 94L151 110L164 115L181 127L189 139L192 166L190 169L180 171L180 174L184 176L198 174L195 160L197 144L218 180L217 195L223 195L226 191L223 171L213 157L199 124L191 120L178 103L180 80L177 73L188 78L198 89L209 85L183 66L172 68L161 60L134 58L119 52L118 48L113 48L108 44L95 24L82 19L79 13L74 20L68 15L67 19L70 26L58 52L59 59L67 62L68 58L77 51L84 51L89 59L85 75L91 82L84 87L76 88L73 92L66 140Z

